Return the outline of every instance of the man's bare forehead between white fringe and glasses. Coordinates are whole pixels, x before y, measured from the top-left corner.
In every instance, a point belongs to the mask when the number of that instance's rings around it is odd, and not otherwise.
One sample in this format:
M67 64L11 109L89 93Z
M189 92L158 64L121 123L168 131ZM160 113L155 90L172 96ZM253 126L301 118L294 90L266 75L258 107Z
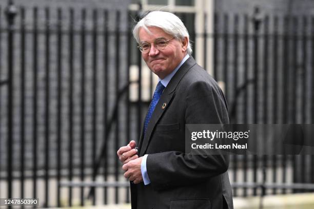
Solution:
M171 35L163 29L157 27L147 27L149 32L144 28L140 28L139 37L141 42L150 42L156 38L171 38Z

